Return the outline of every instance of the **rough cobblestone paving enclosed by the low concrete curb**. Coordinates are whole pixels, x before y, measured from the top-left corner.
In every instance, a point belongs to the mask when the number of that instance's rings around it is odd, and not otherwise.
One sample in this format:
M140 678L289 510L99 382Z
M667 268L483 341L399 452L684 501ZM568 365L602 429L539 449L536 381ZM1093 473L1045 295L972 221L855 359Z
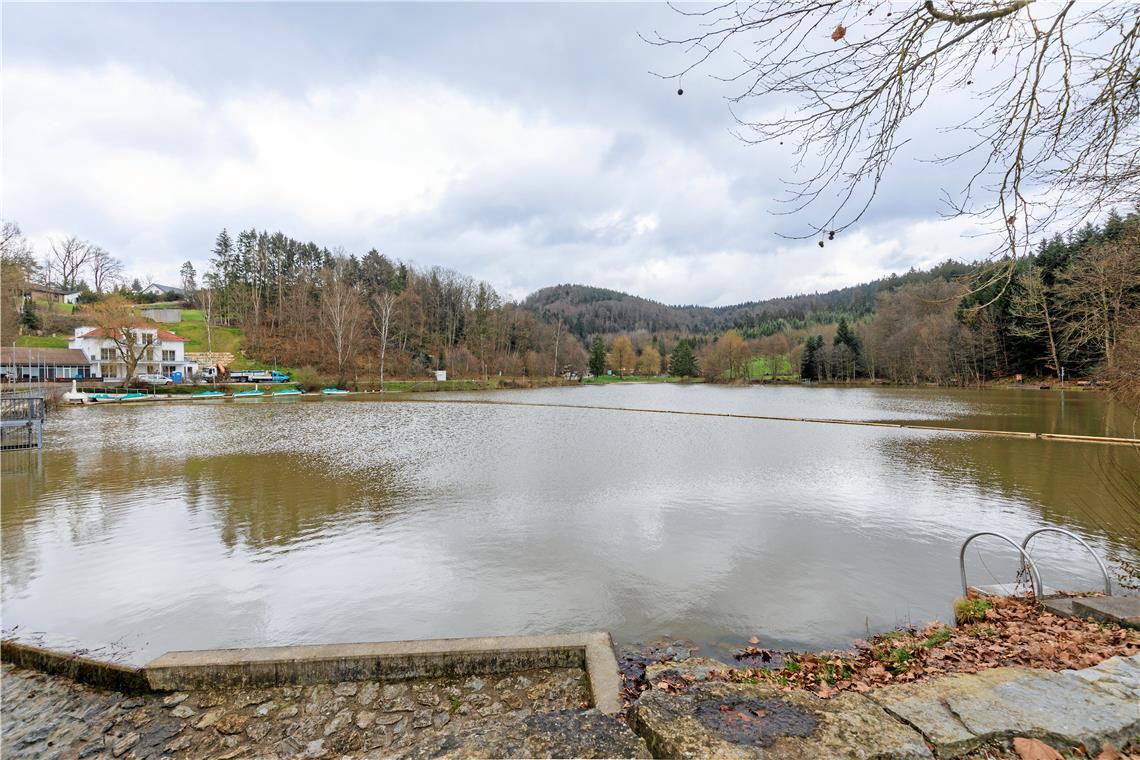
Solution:
M578 669L129 696L5 663L0 688L6 760L389 758L443 730L580 710L589 700Z

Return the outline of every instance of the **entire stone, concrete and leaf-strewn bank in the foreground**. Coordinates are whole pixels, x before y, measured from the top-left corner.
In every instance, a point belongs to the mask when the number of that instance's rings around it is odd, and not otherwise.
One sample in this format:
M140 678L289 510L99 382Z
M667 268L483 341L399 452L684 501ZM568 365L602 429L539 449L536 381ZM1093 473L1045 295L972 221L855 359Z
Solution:
M848 651L749 646L736 665L679 641L616 656L604 632L176 652L139 669L2 649L6 757L902 760L1140 742L1140 632L1024 597Z

